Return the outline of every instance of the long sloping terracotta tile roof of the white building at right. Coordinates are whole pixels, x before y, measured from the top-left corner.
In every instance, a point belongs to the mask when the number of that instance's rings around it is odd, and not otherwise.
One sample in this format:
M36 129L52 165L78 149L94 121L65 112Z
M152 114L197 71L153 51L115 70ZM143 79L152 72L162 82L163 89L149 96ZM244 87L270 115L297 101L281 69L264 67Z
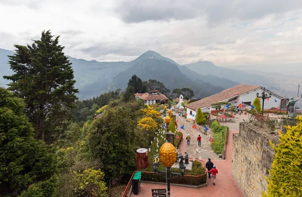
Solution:
M236 95L242 95L247 92L256 90L258 88L261 88L261 86L250 86L250 85L240 84L238 86L234 86L232 88L223 90L222 92L219 92L212 96L209 96L209 97L200 99L198 101L195 101L193 103L190 103L188 105L185 105L185 107L193 109L193 110L197 110L198 107L199 108L209 107L212 104L222 101L224 99L228 99L228 98L234 97Z

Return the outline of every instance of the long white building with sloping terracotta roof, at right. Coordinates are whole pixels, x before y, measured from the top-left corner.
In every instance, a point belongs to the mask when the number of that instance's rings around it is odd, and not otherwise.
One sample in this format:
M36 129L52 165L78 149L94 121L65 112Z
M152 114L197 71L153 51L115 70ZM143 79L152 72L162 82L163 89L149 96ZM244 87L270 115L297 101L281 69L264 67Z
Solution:
M250 106L251 103L257 97L256 94L259 93L259 96L262 95L263 87L261 86L250 86L250 85L238 85L212 96L200 99L193 103L186 105L187 107L187 118L192 118L193 115L196 115L197 109L200 108L202 112L210 113L211 110L217 110L212 108L211 105L220 101L233 102L232 105L239 105L242 103L244 106ZM265 89L265 94L271 94L271 98L264 101L264 109L270 109L272 107L277 108L280 105L280 99L282 97L277 94ZM275 99L277 102L275 102ZM262 108L262 100L261 100Z

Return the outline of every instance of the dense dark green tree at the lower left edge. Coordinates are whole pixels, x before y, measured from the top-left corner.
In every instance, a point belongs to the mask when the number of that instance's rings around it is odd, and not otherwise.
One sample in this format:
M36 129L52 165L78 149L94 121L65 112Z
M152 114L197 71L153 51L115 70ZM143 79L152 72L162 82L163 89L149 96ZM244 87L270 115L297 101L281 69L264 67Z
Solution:
M0 114L1 196L18 196L33 183L43 196L55 196L55 160L45 143L34 139L23 100L0 88Z

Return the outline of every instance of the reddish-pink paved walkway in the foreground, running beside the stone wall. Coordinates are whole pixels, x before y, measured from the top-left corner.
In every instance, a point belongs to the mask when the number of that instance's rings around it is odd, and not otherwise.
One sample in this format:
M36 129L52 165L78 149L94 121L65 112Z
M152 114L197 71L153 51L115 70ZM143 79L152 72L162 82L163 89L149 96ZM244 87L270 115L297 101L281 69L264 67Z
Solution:
M186 127L185 127L186 128ZM238 133L238 130L230 130L228 145L226 147L225 160L213 160L217 166L218 174L216 177L216 185L212 185L211 179L208 179L208 186L202 188L190 188L182 186L171 186L172 197L183 196L205 196L205 197L244 197L244 193L235 182L231 175L232 170L232 145L233 134ZM186 142L183 141L181 148L185 149ZM166 188L165 184L141 183L141 191L138 195L131 196L152 196L151 189Z

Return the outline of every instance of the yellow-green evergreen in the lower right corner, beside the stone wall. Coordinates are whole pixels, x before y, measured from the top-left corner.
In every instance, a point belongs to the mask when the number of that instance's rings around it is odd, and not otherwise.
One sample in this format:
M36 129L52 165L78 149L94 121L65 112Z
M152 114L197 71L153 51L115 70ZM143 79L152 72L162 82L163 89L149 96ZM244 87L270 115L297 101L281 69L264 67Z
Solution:
M296 126L287 126L280 134L280 144L274 146L275 158L264 197L302 196L302 116L296 117Z

